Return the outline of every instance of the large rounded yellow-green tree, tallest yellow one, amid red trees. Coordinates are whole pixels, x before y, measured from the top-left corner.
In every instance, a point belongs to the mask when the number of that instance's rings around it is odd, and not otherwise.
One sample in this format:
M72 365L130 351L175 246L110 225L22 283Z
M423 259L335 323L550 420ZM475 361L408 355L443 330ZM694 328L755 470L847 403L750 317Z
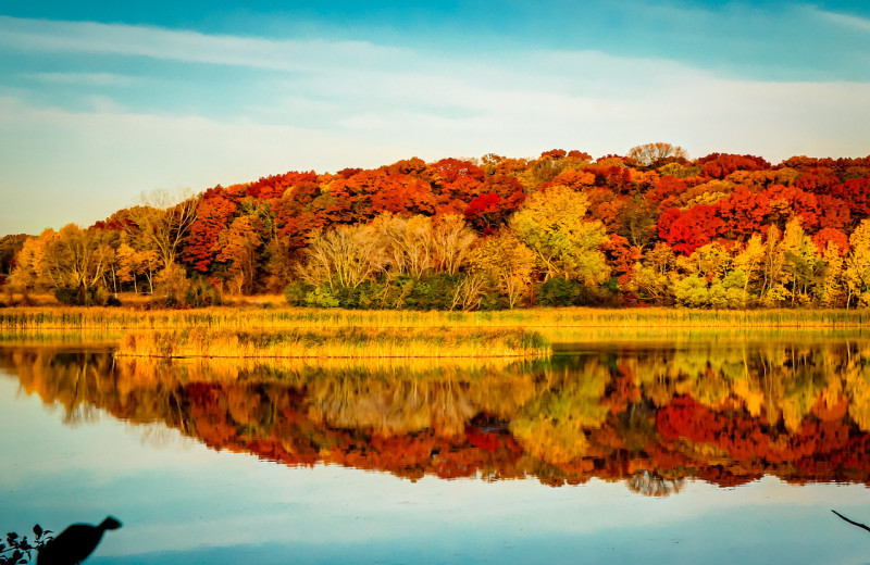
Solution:
M537 255L545 279L555 276L599 285L610 276L600 250L607 240L598 221L585 219L586 196L561 185L532 194L510 227Z

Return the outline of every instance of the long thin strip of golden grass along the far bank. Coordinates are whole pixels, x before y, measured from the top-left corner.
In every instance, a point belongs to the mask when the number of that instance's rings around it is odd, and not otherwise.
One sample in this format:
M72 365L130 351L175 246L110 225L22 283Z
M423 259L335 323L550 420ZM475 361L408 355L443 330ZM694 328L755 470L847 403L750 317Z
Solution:
M586 307L497 312L413 312L293 307L137 311L109 307L0 310L0 330L15 329L323 329L323 328L780 328L863 327L870 310L684 310Z

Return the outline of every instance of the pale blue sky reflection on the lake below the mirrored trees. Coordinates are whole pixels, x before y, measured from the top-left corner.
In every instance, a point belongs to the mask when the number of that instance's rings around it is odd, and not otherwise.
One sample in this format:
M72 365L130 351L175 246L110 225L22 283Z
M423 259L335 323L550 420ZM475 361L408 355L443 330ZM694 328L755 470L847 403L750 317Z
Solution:
M870 489L418 482L289 468L102 416L71 428L0 378L0 529L117 516L89 563L870 563ZM149 431L146 431L149 430Z

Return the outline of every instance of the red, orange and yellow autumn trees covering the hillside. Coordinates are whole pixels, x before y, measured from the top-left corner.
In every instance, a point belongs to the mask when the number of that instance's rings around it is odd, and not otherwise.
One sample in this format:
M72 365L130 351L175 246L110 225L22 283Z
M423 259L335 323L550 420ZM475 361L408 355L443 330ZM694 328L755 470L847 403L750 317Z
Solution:
M870 156L409 159L154 191L89 228L0 240L10 297L284 292L318 307L870 304Z

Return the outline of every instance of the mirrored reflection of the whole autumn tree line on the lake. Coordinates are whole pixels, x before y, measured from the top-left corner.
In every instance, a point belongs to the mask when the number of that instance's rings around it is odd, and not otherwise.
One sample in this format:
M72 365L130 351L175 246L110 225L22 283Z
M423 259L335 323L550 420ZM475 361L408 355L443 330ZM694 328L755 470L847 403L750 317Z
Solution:
M870 482L870 342L597 344L511 364L162 362L4 347L0 364L65 422L105 411L213 449L418 479L622 480L662 497Z

